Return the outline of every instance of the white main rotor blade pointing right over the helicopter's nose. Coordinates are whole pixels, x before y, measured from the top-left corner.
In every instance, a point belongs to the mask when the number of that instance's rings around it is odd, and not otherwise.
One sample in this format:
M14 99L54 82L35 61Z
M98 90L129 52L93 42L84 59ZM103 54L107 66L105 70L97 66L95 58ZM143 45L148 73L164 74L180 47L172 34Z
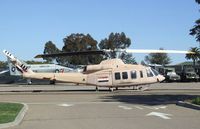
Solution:
M179 51L179 50L147 50L147 49L126 49L128 53L172 53L172 54L195 54L191 51Z

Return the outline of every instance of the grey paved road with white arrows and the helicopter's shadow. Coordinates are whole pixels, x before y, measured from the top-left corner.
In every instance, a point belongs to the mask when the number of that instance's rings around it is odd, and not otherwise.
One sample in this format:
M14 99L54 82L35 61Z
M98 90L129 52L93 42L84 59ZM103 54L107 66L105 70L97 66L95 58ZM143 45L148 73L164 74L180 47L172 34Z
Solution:
M200 83L163 83L148 91L59 85L51 92L9 92L0 85L0 101L28 104L23 122L11 129L199 129L200 111L176 105L200 96ZM21 88L27 86L20 85ZM37 88L38 86L31 86ZM48 90L52 87L43 85ZM59 88L64 88L62 91Z

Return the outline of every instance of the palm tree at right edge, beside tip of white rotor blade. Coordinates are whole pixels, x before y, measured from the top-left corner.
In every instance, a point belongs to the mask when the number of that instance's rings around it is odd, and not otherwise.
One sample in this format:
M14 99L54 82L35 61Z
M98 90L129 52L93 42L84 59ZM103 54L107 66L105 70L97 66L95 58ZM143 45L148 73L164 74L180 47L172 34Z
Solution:
M196 61L198 59L200 59L200 49L197 48L197 47L191 47L189 51L194 52L194 54L186 54L185 58L187 60L192 59L192 61L193 61L193 67L195 67Z

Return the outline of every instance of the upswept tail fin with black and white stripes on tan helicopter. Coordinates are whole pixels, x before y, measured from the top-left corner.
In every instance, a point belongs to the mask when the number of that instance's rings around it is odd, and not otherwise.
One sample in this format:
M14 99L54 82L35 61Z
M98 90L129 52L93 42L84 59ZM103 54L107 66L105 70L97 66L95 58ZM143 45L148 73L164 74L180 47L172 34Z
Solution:
M4 50L3 53L7 56L8 61L11 62L9 64L9 67L11 68L11 71L17 70L21 74L23 73L33 73L33 71L27 67L26 63L18 60L16 57L14 57L10 52ZM13 67L14 66L14 67ZM16 68L16 69L15 69Z

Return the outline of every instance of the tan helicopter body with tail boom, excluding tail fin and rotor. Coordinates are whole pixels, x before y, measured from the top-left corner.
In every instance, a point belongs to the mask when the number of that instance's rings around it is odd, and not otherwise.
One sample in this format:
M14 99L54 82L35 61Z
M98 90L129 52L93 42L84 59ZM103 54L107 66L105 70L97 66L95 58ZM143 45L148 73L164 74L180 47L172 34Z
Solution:
M83 73L24 73L26 78L49 79L98 87L126 87L161 82L165 78L150 67L124 64L120 59L88 65Z

